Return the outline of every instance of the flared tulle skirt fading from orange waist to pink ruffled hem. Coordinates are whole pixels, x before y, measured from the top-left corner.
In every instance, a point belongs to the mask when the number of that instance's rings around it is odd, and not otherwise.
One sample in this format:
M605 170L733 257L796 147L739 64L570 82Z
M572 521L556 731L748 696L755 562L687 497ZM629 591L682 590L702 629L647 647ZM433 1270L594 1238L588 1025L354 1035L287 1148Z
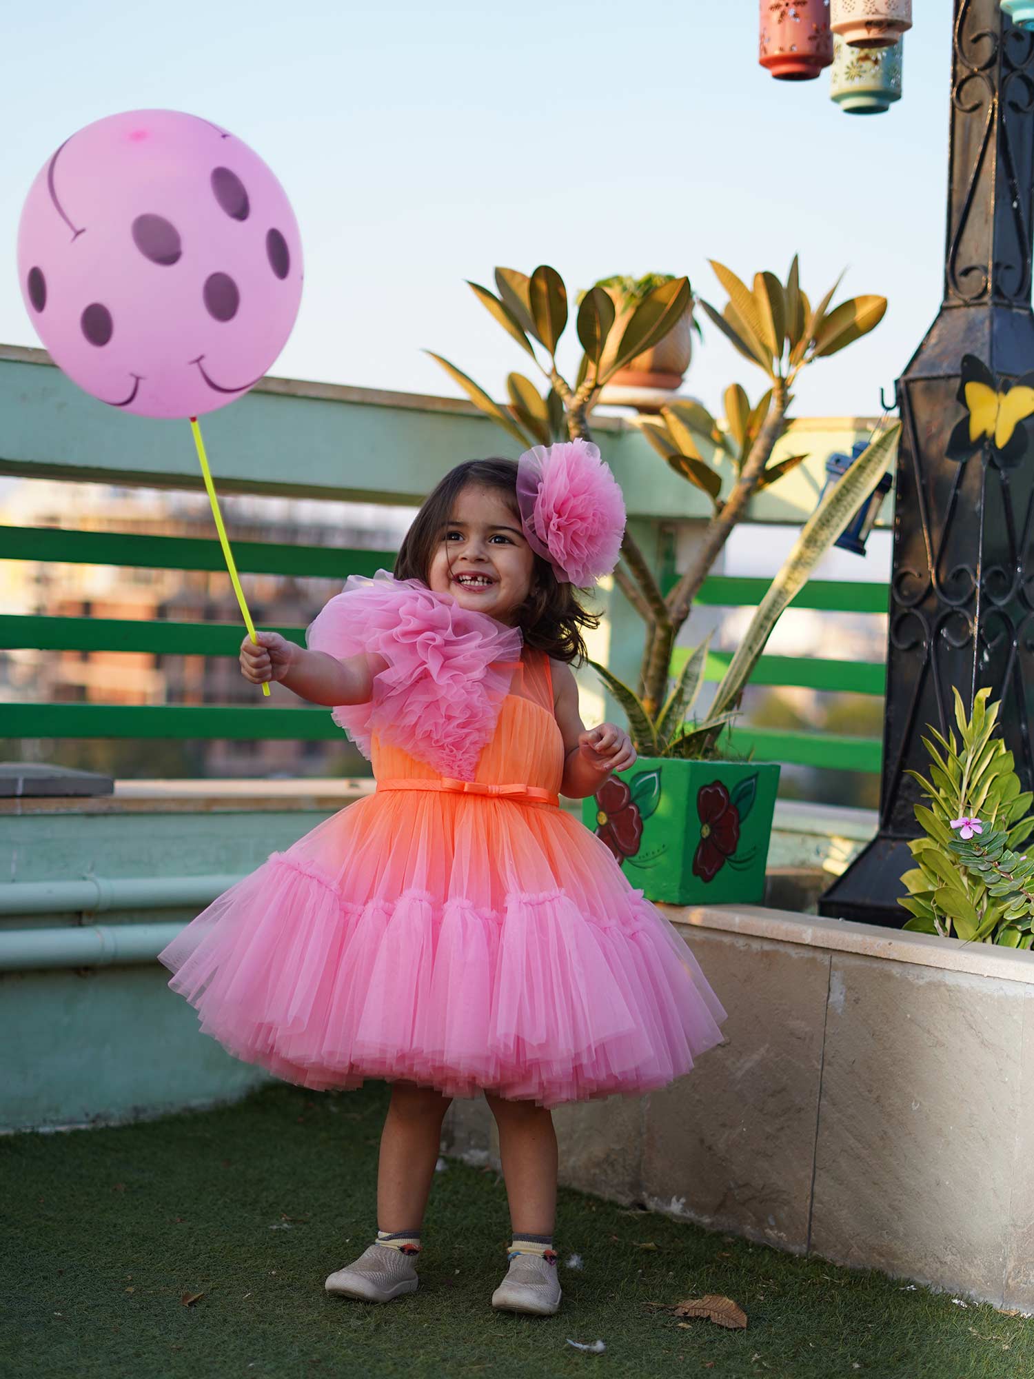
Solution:
M405 1078L543 1106L687 1073L725 1019L699 963L562 809L382 792L160 954L201 1029L312 1088Z

